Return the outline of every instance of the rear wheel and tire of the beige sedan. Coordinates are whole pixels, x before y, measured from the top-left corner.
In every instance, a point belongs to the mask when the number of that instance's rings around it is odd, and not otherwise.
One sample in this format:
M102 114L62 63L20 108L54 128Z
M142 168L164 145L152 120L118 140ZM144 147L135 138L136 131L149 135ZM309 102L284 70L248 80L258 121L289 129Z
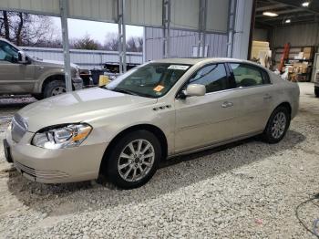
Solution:
M265 130L263 130L262 140L268 143L277 143L283 140L289 128L290 120L291 117L287 108L280 106L274 109Z

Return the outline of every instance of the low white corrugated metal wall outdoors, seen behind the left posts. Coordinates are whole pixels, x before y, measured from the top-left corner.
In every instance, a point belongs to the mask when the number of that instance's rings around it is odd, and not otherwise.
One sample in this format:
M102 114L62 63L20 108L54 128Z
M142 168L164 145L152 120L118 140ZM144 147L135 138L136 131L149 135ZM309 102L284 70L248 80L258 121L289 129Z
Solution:
M63 61L63 49L43 48L43 47L22 47L29 56L41 59ZM71 62L80 68L102 68L105 63L118 63L117 51L100 50L70 50ZM128 52L127 62L141 64L143 61L142 53Z

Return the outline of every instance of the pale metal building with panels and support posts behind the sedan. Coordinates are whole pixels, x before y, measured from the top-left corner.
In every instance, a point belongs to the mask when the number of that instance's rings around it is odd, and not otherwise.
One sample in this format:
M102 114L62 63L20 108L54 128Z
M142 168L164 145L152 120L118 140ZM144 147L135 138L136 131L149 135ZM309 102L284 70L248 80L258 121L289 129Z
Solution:
M67 90L71 90L67 18L118 24L120 72L126 70L127 24L147 26L144 60L248 56L252 0L1 0L0 9L60 16ZM155 45L159 41L160 46Z

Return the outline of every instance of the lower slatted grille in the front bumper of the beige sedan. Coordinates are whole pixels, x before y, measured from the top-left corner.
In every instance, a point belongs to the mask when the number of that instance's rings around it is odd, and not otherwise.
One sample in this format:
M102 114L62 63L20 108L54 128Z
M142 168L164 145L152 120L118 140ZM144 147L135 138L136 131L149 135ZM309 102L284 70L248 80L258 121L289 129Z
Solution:
M45 180L51 180L51 179L59 179L59 178L65 178L68 177L67 173L64 171L39 171L31 167L27 167L26 165L14 161L15 168L24 171L27 174L36 177L38 179L45 179Z

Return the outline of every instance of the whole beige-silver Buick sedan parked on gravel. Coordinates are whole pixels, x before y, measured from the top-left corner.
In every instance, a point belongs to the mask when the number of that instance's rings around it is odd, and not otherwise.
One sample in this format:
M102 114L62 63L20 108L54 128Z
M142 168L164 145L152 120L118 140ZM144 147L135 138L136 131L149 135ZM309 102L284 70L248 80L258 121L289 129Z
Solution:
M166 158L254 135L278 142L298 105L297 84L251 62L162 59L106 87L19 110L7 130L5 155L36 182L105 174L130 189L148 182Z

